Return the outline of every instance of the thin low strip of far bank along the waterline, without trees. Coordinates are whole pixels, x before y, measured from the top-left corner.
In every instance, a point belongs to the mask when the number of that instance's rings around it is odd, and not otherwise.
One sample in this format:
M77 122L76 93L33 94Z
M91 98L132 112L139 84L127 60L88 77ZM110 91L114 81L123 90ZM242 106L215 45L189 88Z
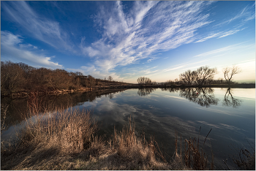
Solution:
M106 89L129 89L129 88L255 88L255 84L211 84L211 85L139 85L139 84L110 84L109 86L95 86L92 88L76 88L76 89L60 89L56 91L36 91L38 95L59 95L59 94L70 94L75 92L86 92L86 91L99 91ZM1 96L1 98L25 98L34 94L34 91L19 91L12 94Z

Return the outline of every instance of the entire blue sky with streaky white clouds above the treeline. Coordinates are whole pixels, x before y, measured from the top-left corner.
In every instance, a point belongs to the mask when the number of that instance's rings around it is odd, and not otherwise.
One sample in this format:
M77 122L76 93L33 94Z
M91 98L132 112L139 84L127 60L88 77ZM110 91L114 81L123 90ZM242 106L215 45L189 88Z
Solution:
M1 61L126 83L236 65L255 80L255 1L1 1Z

